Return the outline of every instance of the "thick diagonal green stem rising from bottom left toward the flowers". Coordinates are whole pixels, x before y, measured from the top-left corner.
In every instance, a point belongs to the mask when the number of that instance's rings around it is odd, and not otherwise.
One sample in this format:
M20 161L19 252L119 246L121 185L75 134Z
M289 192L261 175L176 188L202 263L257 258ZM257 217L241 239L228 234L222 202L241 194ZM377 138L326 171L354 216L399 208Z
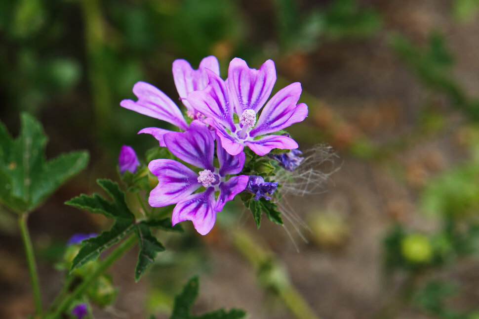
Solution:
M53 312L52 315L47 316L48 319L61 318L61 314L75 301L81 294L93 283L99 276L105 273L110 266L113 265L124 253L126 253L136 242L136 236L132 235L124 240L114 251L112 251L105 260L103 260L98 267L88 277L75 288L74 291Z

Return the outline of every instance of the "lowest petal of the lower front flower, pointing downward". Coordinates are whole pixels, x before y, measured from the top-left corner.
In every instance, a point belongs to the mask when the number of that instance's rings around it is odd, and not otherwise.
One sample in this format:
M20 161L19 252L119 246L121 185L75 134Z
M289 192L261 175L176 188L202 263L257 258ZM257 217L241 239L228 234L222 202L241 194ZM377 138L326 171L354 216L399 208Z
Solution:
M214 188L208 187L204 192L188 196L173 209L171 223L173 226L183 221L192 221L195 229L206 235L216 221Z

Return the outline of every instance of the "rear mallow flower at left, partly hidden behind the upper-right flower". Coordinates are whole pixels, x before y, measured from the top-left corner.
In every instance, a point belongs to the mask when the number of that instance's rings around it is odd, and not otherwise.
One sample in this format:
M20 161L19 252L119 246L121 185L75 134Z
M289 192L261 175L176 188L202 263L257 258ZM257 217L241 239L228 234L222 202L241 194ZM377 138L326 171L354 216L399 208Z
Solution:
M208 84L206 69L211 73L219 75L218 60L214 56L207 56L200 62L198 70L194 70L186 60L175 60L173 62L173 78L176 90L180 99L187 108L187 115L193 119L201 118L202 115L195 110L186 100L188 93L195 90L202 90ZM188 130L183 114L178 106L165 93L146 82L137 82L133 86L133 93L138 97L138 101L122 100L120 106L129 110L166 121L180 128L182 131ZM165 146L163 136L171 131L160 128L145 128L138 132L153 135L160 142L160 146Z

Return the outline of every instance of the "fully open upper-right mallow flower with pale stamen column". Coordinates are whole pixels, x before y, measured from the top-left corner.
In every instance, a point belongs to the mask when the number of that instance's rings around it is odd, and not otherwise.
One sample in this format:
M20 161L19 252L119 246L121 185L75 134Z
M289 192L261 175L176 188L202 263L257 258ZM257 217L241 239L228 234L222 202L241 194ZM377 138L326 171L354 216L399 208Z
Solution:
M205 123L216 129L228 153L239 154L245 145L258 155L265 155L273 148L298 147L290 137L268 135L301 122L308 115L306 104L296 104L302 91L300 83L279 90L263 107L276 82L272 60L256 70L250 69L244 60L234 58L228 68L227 81L212 71L206 72L208 86L188 94L188 102L207 117ZM238 123L234 121L234 114L238 116Z

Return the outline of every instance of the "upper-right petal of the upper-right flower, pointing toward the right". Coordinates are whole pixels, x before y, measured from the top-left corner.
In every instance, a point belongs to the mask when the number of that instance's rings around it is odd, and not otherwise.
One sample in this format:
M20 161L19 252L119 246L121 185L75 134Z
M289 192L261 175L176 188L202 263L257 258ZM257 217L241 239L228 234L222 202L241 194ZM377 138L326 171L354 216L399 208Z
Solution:
M308 116L308 106L296 105L301 95L301 84L296 82L281 89L261 111L251 137L278 132L293 123L303 121Z

